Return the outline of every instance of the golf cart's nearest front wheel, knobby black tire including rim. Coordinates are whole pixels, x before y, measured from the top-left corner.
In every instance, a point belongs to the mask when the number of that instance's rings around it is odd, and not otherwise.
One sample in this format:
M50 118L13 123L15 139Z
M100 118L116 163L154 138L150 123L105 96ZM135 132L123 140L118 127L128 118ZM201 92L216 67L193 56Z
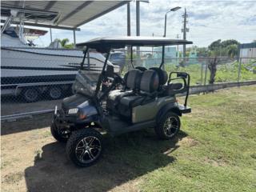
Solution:
M92 128L72 132L66 143L66 154L76 166L92 166L102 150L102 134Z

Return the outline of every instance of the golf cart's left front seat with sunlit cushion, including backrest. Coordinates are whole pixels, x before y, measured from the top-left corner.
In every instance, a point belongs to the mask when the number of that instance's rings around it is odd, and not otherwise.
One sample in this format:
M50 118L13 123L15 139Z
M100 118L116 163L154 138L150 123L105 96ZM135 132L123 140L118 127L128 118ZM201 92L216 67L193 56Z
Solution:
M123 90L112 90L106 100L106 109L115 111L115 106L118 105L120 99L126 95L134 95L138 92L139 83L142 78L142 71L134 69L129 70L125 77L124 81L126 83Z

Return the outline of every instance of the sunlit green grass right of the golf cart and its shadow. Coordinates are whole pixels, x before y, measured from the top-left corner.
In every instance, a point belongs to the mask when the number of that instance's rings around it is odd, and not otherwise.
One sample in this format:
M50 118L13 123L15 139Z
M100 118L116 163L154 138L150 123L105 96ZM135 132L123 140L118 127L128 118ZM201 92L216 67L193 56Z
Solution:
M255 93L250 86L190 97L188 136L167 154L174 162L142 176L142 191L255 191Z

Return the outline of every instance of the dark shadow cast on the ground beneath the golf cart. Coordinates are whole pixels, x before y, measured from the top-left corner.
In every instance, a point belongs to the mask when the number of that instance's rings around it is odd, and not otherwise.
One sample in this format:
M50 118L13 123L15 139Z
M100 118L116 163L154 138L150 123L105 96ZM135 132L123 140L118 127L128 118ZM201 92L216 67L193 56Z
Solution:
M34 166L25 170L28 191L106 191L175 161L170 151L186 137L180 132L171 141L158 140L153 130L104 137L102 158L87 168L78 168L66 158L66 145L53 142L42 147ZM165 153L168 151L168 155ZM127 189L129 190L129 189Z

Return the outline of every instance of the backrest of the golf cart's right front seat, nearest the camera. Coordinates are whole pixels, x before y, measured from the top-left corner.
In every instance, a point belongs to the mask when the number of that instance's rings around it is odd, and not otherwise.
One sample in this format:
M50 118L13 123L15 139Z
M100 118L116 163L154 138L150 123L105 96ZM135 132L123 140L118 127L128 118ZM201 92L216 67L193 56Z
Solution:
M155 70L146 70L142 74L139 89L148 93L158 90L159 77Z

